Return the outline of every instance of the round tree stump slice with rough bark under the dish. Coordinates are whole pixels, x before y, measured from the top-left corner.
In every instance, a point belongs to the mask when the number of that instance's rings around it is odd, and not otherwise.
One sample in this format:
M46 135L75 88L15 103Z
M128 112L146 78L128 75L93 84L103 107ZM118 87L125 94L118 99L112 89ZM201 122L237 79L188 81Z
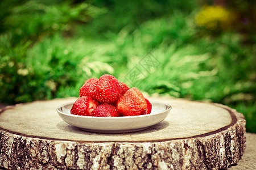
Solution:
M7 169L221 169L245 151L245 118L221 104L151 98L168 117L135 133L90 133L56 112L76 98L35 101L0 113L0 167Z

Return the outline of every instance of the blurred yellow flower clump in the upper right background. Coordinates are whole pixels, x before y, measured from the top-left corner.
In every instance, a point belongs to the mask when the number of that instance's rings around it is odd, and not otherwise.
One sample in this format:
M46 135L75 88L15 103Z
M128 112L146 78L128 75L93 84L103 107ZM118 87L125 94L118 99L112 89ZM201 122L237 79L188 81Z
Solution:
M205 5L195 17L195 23L208 29L228 29L234 22L233 12L221 6Z

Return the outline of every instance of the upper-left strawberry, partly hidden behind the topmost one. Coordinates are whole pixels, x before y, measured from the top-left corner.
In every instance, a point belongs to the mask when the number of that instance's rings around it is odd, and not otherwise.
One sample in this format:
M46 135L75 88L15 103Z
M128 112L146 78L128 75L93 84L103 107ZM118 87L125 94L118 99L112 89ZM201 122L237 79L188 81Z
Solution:
M91 78L85 81L84 85L80 88L79 96L89 96L92 99L96 99L95 92L98 86L98 79Z

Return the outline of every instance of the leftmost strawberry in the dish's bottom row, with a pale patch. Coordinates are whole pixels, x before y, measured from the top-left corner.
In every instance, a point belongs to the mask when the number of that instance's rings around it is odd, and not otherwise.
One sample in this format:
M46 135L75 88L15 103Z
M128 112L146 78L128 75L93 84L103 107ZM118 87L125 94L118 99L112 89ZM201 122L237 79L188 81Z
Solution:
M91 97L82 96L75 101L71 108L71 114L81 116L91 116L93 109L96 108L100 103L93 100Z

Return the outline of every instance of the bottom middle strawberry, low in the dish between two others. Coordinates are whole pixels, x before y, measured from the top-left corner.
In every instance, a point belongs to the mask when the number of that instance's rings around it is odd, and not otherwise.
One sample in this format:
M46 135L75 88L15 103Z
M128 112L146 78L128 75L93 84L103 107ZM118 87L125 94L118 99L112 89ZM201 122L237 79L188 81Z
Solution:
M117 117L121 116L117 108L110 104L98 105L92 112L92 116L96 117Z

